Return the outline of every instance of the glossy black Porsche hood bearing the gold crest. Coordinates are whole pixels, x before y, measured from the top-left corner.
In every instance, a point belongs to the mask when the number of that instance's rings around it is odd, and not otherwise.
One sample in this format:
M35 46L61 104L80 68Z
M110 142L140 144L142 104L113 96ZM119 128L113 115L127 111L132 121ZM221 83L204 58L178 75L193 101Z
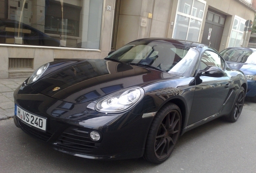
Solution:
M32 85L43 95L83 103L122 88L176 75L104 59L79 61L52 72Z

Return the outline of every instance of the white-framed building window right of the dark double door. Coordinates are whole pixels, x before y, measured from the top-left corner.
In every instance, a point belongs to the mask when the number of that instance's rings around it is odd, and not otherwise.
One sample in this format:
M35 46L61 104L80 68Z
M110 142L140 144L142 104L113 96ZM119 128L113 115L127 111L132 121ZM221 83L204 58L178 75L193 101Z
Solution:
M245 19L235 16L228 47L240 47L242 45L245 22Z

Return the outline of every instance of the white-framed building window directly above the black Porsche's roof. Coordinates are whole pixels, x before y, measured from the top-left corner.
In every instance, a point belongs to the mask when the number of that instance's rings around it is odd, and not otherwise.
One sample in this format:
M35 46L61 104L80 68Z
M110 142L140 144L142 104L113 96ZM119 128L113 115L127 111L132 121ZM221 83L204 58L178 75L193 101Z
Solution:
M206 1L179 0L172 38L198 42Z

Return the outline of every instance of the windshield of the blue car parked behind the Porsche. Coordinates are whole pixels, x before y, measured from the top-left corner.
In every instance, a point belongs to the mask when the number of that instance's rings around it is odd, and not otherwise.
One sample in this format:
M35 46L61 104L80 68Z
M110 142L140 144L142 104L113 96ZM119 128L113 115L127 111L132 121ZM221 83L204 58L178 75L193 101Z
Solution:
M226 61L256 64L256 52L250 49L227 49L221 55Z

